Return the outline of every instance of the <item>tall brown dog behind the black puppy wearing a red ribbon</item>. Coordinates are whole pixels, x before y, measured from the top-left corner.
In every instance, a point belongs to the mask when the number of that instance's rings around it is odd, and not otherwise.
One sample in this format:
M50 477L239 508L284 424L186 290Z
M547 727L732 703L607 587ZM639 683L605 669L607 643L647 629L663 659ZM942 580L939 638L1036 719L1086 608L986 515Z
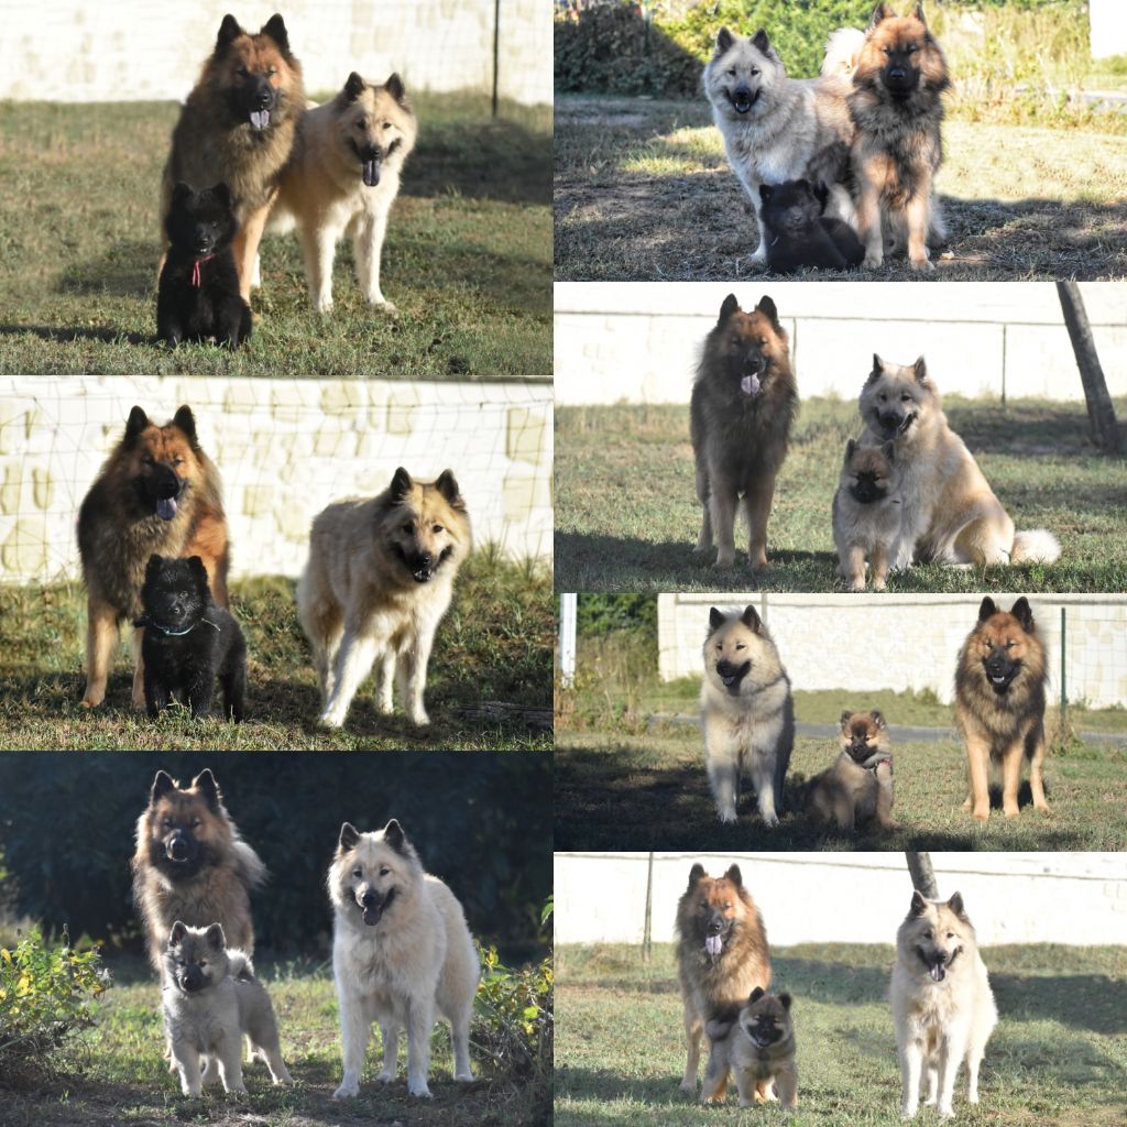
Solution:
M250 300L258 243L304 108L301 64L282 17L272 16L251 34L224 16L215 50L172 130L160 216L163 227L178 181L197 190L228 186L239 223L233 251L243 301Z

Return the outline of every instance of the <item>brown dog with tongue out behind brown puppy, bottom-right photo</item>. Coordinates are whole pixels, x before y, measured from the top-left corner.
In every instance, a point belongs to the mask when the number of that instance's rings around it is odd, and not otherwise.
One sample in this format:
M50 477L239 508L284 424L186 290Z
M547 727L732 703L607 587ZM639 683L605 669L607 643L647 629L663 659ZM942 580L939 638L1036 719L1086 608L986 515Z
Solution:
M690 870L677 902L677 975L689 1048L681 1090L695 1093L706 1022L731 1005L738 1009L756 986L771 985L763 917L738 866L722 877L706 876L700 864Z

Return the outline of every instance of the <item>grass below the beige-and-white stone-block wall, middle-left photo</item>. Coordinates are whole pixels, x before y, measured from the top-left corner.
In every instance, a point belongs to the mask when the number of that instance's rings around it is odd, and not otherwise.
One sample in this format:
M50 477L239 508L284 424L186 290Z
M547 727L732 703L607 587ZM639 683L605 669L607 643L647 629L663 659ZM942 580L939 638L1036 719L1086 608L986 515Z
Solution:
M376 749L551 747L550 731L520 715L460 717L481 701L549 708L551 580L540 564L470 557L438 628L427 686L431 726L401 711L382 717L365 682L344 729L316 726L319 694L289 579L236 583L231 610L249 650L247 720L193 720L183 710L150 721L130 707L132 662L119 647L106 703L79 707L86 678L86 598L78 584L0 587L0 749Z

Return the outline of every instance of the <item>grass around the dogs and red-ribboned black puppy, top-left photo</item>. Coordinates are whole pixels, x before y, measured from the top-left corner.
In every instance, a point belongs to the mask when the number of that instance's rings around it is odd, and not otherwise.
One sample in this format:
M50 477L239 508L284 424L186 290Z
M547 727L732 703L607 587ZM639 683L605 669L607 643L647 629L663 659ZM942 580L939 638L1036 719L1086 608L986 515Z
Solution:
M371 310L341 246L332 312L295 236L263 243L261 314L234 354L152 341L157 199L172 103L0 103L0 372L464 376L551 371L551 121L420 96L383 251L398 317Z

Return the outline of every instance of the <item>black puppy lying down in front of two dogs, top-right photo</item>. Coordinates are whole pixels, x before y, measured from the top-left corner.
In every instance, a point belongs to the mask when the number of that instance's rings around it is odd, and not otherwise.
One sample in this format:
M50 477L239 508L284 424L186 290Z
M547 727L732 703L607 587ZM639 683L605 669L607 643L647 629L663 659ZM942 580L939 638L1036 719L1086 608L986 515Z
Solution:
M861 265L864 247L853 229L824 214L828 197L824 184L808 180L760 185L769 269L793 274L802 266L844 270Z

